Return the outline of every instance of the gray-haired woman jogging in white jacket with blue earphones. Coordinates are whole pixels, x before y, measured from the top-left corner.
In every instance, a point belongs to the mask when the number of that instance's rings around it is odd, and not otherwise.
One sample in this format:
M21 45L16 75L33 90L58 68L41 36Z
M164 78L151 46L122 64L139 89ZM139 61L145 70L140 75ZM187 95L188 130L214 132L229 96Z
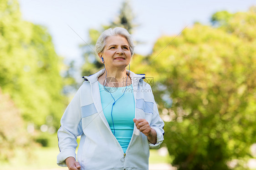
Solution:
M123 28L105 30L98 38L96 53L104 69L83 77L61 118L58 165L69 170L148 170L149 148L163 142L164 122L145 75L126 70L133 50L132 37Z

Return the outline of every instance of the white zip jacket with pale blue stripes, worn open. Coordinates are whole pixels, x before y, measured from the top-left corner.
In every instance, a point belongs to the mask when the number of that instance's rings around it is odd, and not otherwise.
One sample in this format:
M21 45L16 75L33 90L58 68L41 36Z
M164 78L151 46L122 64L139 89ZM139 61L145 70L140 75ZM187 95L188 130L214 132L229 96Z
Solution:
M103 73L104 70L100 70L84 77L85 81L67 106L58 130L60 153L57 164L67 166L67 157L76 158L76 139L82 135L77 153L81 170L148 170L149 147L158 148L164 140L164 122L159 116L152 89L143 81L145 75L130 71L135 118L148 121L157 133L157 143L148 142L147 136L134 125L130 144L123 153L102 111L97 78Z

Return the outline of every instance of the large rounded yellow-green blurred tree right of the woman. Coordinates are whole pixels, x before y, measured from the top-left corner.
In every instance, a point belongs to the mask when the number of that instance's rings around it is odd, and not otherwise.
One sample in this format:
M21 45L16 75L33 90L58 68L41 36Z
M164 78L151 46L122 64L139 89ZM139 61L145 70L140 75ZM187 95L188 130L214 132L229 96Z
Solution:
M228 161L251 157L256 141L255 7L213 18L219 27L195 24L165 50L174 37L161 37L152 55L132 61L135 72L154 76L164 142L179 170L227 170Z

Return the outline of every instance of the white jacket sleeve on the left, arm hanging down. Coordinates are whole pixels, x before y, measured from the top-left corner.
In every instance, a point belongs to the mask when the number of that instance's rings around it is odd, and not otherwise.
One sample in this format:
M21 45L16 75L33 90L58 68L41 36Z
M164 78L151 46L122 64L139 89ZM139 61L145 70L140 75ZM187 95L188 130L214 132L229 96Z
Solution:
M60 149L57 155L57 165L67 166L65 160L68 157L77 159L77 136L82 135L80 89L61 117L61 127L57 135Z

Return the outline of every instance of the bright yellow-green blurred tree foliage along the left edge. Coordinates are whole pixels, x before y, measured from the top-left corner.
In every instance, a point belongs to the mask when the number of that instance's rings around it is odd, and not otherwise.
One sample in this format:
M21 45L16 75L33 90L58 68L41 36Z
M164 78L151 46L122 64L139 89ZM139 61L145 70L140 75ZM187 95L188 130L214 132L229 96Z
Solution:
M0 86L36 127L59 127L66 101L62 65L46 28L22 20L16 0L1 0ZM47 116L53 119L46 121Z

